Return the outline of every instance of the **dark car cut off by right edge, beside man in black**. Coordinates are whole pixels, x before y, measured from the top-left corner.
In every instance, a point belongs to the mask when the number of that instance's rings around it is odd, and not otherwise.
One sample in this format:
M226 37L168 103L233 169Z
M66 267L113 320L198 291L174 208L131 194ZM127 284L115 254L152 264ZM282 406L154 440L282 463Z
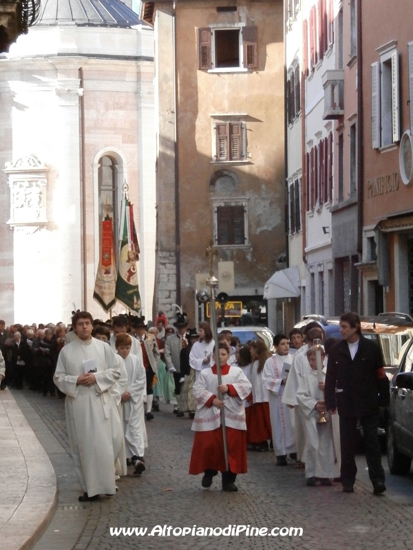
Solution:
M403 349L390 382L389 418L386 425L387 459L395 475L410 472L413 459L413 338Z

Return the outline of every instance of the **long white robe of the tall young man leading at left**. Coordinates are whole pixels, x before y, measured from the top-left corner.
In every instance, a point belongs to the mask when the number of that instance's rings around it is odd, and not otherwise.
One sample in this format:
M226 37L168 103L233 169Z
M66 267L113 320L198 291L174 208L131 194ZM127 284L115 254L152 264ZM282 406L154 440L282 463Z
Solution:
M96 384L78 386L83 362L94 360ZM115 494L115 463L122 450L123 430L110 390L121 368L112 349L95 338L76 338L59 353L54 384L66 394L67 434L74 468L83 492L89 496Z

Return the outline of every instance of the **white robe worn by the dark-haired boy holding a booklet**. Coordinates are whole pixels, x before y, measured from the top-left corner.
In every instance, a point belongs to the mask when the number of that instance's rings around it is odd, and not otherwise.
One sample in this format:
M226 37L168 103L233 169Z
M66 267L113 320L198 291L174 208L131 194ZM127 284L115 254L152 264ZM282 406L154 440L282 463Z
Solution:
M281 383L285 377L282 375L283 365L285 363L287 369L290 369L292 360L290 354L275 353L266 360L262 371L264 387L268 390L275 456L285 456L295 452L294 410L282 403L285 386Z

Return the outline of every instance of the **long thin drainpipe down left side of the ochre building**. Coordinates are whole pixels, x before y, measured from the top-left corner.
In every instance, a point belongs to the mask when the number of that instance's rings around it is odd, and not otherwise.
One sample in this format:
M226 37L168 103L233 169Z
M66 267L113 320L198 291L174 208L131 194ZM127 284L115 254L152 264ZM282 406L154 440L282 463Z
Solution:
M175 109L175 246L176 246L176 303L181 305L180 288L180 219L179 219L179 165L178 165L178 70L176 67L176 2L173 2L173 102Z

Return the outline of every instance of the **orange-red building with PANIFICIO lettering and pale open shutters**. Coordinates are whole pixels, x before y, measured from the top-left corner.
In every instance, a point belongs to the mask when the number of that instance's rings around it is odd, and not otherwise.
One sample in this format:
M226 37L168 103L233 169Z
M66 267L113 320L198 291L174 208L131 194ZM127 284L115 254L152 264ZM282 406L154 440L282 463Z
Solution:
M366 0L363 36L363 313L413 314L413 31L406 0ZM380 32L377 32L380 29Z

